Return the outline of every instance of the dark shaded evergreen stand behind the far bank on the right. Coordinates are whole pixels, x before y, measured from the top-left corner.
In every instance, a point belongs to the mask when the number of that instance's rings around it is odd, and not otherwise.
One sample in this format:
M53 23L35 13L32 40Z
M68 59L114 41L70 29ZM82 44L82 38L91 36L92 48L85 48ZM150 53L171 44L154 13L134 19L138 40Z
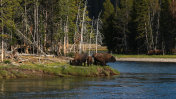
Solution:
M176 49L175 0L105 0L103 8L102 33L109 52L171 54Z

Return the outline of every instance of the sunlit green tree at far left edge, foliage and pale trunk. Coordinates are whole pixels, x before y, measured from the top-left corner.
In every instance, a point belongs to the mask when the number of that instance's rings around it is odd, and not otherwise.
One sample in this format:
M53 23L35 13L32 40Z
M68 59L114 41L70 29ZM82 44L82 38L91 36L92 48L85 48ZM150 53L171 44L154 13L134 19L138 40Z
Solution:
M7 31L15 27L13 16L18 10L20 0L1 0L1 61L4 58L4 39L7 37ZM10 33L9 33L10 34ZM7 38L6 38L7 39Z

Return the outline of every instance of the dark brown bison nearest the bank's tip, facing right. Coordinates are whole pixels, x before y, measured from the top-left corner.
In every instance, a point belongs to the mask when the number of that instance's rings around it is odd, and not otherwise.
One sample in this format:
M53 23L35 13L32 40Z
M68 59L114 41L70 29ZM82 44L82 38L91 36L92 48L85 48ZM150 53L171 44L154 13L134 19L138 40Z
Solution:
M105 66L108 62L115 62L116 59L108 53L96 53L93 54L94 64Z

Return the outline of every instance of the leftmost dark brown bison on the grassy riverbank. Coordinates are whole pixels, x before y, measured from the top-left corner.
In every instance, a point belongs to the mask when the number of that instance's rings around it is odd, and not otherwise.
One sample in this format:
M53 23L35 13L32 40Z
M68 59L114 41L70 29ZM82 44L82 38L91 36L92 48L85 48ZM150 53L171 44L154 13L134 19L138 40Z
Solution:
M80 65L84 64L86 66L86 60L87 60L88 55L87 54L78 54L75 53L74 60L72 61L72 64Z

